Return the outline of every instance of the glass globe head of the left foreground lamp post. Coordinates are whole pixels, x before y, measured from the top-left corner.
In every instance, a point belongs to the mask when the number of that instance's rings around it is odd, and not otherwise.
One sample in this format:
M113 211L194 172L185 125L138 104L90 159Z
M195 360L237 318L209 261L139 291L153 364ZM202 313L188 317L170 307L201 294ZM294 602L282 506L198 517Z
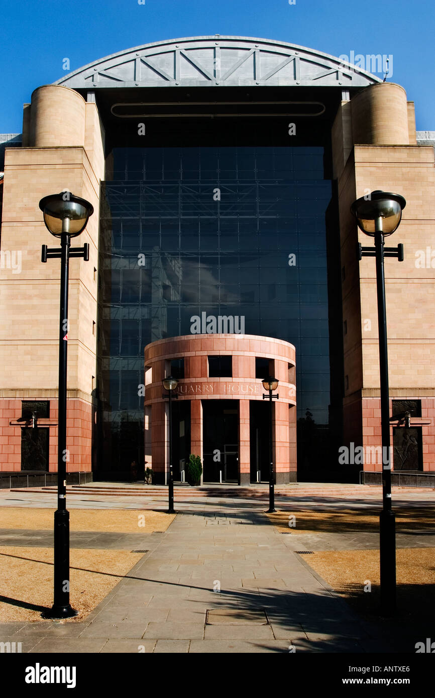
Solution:
M77 237L86 228L89 216L94 213L94 207L86 199L74 196L69 191L45 196L39 202L39 208L44 214L44 223L54 237L62 237L67 233Z

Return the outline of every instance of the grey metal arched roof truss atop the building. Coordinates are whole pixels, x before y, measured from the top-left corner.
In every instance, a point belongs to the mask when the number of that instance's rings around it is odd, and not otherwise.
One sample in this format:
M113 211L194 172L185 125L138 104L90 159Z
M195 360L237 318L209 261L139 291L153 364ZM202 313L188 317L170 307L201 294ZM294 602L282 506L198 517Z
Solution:
M226 85L367 87L381 80L304 46L246 36L193 36L136 46L83 66L54 84L103 87Z

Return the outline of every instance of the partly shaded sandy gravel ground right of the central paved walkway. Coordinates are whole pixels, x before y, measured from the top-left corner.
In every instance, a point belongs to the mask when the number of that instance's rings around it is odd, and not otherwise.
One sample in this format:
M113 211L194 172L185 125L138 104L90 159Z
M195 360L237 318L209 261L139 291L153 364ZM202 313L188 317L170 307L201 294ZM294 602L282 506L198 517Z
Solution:
M397 533L434 533L434 507L395 507ZM322 533L378 532L379 509L356 507L321 511L292 508L286 512L267 514L279 531L292 535ZM294 516L295 519L289 519ZM289 526L295 523L295 527ZM304 538L304 540L306 540ZM378 543L377 543L378 544ZM307 563L335 591L351 603L355 611L365 616L376 615L380 605L379 550L357 549L314 551L304 555ZM409 623L418 618L435 621L435 548L406 547L396 550L396 579L398 614Z

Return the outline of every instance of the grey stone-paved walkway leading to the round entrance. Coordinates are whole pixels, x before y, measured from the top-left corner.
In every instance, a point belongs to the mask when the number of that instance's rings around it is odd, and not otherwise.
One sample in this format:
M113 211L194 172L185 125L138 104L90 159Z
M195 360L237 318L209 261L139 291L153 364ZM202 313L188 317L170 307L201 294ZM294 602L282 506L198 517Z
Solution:
M3 624L0 639L32 653L406 651L392 626L360 620L311 570L302 537L278 533L264 504L182 508L165 533L114 544L149 552L85 621Z

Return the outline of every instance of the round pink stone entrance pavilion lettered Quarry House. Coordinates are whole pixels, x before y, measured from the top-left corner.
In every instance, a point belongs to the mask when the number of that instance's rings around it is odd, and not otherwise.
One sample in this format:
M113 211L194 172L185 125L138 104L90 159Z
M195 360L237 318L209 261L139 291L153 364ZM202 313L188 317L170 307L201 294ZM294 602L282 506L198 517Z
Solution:
M295 347L250 334L207 333L161 339L145 348L145 462L165 482L168 408L162 380L177 374L172 422L176 480L189 453L200 456L205 482L249 484L270 475L270 427L261 378L279 380L272 443L278 484L296 480ZM147 380L147 376L149 380ZM175 376L174 376L175 377ZM266 393L268 395L268 393Z

